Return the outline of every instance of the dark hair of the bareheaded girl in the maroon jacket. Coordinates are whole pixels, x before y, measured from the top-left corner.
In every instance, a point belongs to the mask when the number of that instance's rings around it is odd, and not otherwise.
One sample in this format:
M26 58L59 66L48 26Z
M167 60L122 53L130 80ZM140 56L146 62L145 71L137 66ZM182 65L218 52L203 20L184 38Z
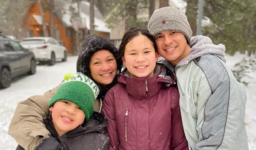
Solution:
M126 44L128 42L130 42L130 40L133 37L136 37L138 35L146 36L153 43L155 51L157 51L157 44L155 43L154 36L151 35L147 29L143 29L143 28L139 28L139 27L134 27L134 28L129 29L124 34L122 42L121 42L120 47L119 47L119 51L117 53L117 58L121 58L122 56L124 56L124 51L125 51Z

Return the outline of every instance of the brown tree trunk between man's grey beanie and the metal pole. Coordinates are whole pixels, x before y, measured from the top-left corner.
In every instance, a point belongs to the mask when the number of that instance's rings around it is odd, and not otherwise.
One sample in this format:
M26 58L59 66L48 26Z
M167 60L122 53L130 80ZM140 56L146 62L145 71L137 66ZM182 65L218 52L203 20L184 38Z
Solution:
M193 32L193 36L196 35L196 20L197 20L197 9L198 9L198 0L188 0L186 15L188 17L188 23Z

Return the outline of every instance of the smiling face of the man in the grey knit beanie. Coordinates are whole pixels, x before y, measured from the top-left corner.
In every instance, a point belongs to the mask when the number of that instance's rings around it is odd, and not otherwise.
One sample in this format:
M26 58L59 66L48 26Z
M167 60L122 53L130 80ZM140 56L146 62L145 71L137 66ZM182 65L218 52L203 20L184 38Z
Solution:
M188 56L191 49L185 36L177 31L163 31L155 35L155 41L159 54L173 66Z

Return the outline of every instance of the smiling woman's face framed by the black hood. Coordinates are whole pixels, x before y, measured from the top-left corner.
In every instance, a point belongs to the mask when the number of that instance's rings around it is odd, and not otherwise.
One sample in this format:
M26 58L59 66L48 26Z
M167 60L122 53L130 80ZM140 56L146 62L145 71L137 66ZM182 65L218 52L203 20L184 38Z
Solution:
M91 56L89 69L96 82L110 84L117 73L116 58L108 50L99 50Z

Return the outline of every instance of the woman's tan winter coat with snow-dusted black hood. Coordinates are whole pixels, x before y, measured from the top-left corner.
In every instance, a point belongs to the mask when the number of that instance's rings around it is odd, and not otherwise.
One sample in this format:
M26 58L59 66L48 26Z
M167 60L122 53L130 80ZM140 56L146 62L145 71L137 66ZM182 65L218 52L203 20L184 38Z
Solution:
M104 37L91 34L86 37L80 47L76 70L93 79L90 75L89 60L94 52L99 50L108 50L115 57L118 52L117 48ZM117 59L118 71L121 71L122 64L121 59ZM100 93L94 103L94 111L100 111L101 103L106 92L116 83L117 79L115 78L106 87L98 84ZM50 132L45 128L43 118L49 116L48 104L59 86L45 92L44 95L31 96L18 103L9 126L8 134L26 150L34 150L39 143L50 137Z

